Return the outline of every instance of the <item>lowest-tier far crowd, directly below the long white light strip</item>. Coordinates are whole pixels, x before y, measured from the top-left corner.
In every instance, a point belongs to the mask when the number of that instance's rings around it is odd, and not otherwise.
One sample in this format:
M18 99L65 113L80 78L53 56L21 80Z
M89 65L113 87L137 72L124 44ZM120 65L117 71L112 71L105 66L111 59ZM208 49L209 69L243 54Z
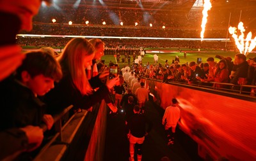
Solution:
M22 38L17 37L20 46L52 46L63 48L71 38ZM234 43L225 41L179 41L179 40L158 40L158 39L104 39L106 43L106 55L113 55L109 50L116 48L205 48L213 50L236 50Z

